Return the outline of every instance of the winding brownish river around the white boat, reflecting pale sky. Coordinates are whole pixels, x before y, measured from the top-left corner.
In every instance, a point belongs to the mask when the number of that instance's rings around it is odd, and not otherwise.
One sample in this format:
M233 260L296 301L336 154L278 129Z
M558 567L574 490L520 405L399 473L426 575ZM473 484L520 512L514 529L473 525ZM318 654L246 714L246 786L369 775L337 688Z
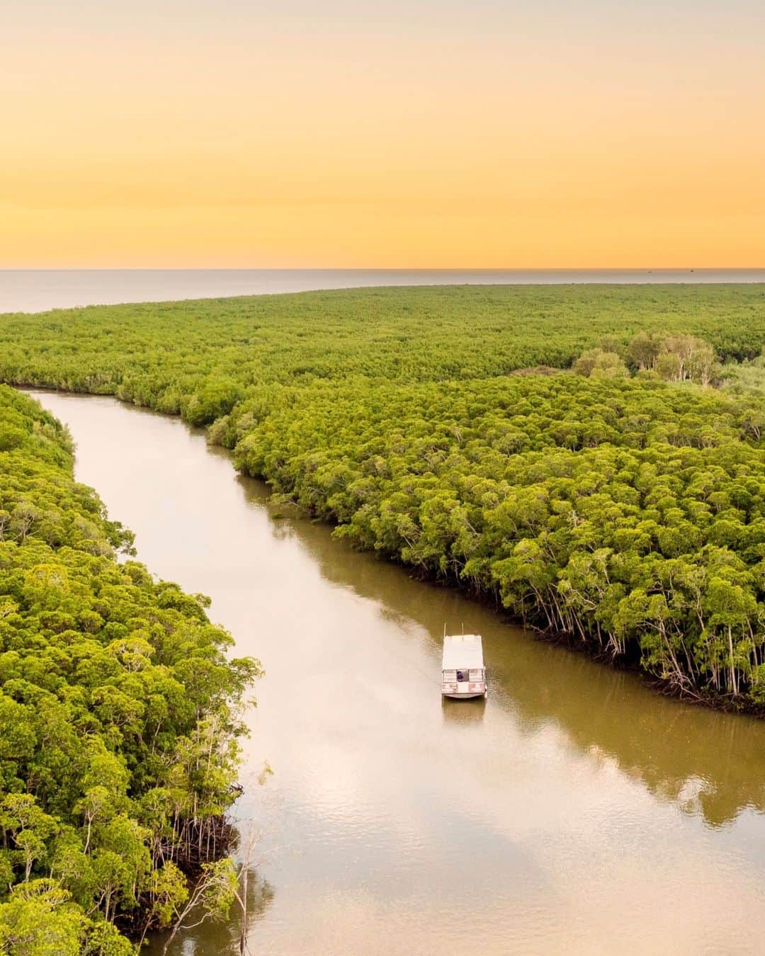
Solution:
M142 561L212 597L266 669L234 808L261 831L252 953L765 951L765 724L280 517L178 420L33 394ZM442 703L445 623L483 635L486 703ZM233 953L237 934L206 924L171 952Z

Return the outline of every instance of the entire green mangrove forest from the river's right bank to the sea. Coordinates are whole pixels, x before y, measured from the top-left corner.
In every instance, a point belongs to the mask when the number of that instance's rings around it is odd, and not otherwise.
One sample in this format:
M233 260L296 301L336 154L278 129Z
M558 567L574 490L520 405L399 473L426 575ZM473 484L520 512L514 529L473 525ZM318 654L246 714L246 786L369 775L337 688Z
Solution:
M756 363L710 383L763 341L757 285L376 289L7 316L0 377L211 424L359 547L762 706Z

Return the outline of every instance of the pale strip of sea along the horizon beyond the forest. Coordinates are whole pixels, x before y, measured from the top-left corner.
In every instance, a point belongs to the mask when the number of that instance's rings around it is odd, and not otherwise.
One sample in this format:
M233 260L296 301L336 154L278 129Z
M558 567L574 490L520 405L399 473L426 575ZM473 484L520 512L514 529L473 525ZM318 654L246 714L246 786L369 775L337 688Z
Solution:
M765 282L765 269L9 269L0 270L0 314L361 286L566 282Z

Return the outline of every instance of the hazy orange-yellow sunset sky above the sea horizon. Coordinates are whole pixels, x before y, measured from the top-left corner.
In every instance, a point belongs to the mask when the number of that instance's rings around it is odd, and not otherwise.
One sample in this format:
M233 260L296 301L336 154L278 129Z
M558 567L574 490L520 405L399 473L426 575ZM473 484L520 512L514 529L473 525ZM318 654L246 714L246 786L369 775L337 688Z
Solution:
M0 268L765 266L762 0L1 0Z

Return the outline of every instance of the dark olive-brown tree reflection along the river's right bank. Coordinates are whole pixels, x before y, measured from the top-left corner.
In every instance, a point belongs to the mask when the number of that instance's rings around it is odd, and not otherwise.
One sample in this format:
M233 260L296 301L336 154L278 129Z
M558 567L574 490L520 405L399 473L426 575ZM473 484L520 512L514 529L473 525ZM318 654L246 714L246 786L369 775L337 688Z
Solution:
M213 454L228 458L222 449ZM270 490L239 476L248 502L269 507ZM554 724L582 753L609 757L650 793L710 826L741 810L765 810L765 727L753 718L667 700L634 674L613 671L578 653L538 641L458 592L427 584L372 554L333 539L325 526L279 506L273 533L295 537L321 575L379 605L381 619L425 629L440 654L444 623L483 635L491 668L491 704L509 710L524 734ZM470 621L470 623L469 623ZM491 706L490 704L490 706ZM452 706L453 705L453 706ZM444 720L479 724L483 700L449 701Z

